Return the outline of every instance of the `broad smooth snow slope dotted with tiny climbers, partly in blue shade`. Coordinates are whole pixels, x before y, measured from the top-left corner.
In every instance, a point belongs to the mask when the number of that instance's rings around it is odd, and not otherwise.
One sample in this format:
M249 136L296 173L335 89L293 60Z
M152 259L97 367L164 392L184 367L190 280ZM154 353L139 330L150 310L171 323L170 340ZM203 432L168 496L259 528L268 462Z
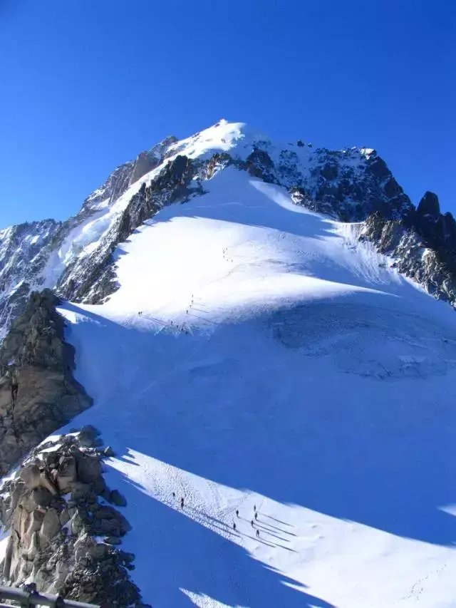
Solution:
M453 311L280 187L204 186L61 309L145 601L454 607Z

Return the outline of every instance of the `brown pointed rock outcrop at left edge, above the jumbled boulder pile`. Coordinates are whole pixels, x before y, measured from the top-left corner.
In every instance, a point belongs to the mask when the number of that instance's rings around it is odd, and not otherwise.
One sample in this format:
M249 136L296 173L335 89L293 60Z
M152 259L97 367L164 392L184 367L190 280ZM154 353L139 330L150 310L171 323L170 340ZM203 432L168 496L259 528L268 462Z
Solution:
M74 351L57 304L49 290L33 292L0 348L0 475L90 406L73 378Z

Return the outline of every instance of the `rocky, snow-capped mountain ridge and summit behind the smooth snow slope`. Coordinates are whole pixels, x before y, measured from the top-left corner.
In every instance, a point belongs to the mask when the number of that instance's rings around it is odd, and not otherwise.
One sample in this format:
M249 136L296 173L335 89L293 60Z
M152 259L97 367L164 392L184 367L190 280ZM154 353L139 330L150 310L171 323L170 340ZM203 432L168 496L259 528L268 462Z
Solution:
M116 289L115 247L157 210L204 192L227 166L281 185L294 202L361 222L400 272L439 299L456 298L456 222L427 193L415 210L384 161L367 148L327 150L302 140L275 144L242 123L217 125L185 140L167 138L116 169L66 222L33 222L0 232L0 337L33 289L98 303Z

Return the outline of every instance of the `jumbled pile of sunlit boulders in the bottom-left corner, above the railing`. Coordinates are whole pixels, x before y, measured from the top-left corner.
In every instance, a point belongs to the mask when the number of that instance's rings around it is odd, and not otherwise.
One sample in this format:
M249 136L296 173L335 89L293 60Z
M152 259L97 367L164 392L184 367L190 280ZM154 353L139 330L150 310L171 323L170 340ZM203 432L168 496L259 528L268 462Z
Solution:
M105 450L93 427L32 451L0 488L1 524L10 530L5 584L32 580L40 592L103 607L146 608L130 579L134 555L119 548L130 524L103 478Z

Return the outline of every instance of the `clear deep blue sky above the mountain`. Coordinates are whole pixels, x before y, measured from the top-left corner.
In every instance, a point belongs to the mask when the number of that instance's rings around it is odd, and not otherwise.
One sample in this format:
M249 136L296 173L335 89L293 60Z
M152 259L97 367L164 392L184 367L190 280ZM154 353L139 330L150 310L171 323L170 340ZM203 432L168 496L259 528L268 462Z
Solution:
M0 0L0 227L219 118L383 155L456 212L453 0Z

